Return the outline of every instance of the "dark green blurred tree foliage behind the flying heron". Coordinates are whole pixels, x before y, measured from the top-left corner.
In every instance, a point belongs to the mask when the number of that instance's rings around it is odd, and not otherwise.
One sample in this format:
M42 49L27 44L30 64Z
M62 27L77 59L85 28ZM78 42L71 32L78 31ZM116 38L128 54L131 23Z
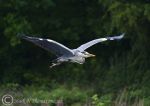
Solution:
M149 0L0 0L0 83L79 86L106 94L118 90L150 92ZM70 48L95 38L126 33L100 43L84 65L49 69L55 56L17 37L50 38Z

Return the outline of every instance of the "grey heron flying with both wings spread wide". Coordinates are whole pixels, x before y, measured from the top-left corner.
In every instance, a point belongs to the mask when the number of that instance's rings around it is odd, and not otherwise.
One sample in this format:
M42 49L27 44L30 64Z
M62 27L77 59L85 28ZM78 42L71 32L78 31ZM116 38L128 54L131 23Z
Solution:
M113 37L105 37L105 38L99 38L92 40L90 42L87 42L81 46L79 46L76 49L69 49L68 47L64 46L63 44L60 44L54 40L51 39L43 39L43 38L37 38L37 37L29 37L25 34L19 35L22 39L25 39L27 41L30 41L37 46L40 46L44 48L47 51L52 52L55 54L58 58L52 61L52 64L50 65L50 68L60 65L63 62L73 62L73 63L79 63L83 64L85 62L85 58L88 57L94 57L95 55L88 53L85 51L89 47L103 42L107 40L119 40L124 37L124 33L119 36L113 36Z

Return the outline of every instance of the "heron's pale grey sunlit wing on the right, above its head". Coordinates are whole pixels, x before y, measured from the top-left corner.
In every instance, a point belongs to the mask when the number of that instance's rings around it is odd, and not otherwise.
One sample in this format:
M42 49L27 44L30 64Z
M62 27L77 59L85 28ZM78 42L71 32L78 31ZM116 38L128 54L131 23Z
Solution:
M95 39L95 40L92 40L90 42L87 42L87 43L81 45L80 47L77 48L77 50L79 50L80 52L83 52L87 48L89 48L89 47L91 47L91 46L93 46L93 45L95 45L97 43L100 43L100 42L103 42L103 41L106 41L106 40L119 40L119 39L122 39L123 36L124 36L124 33L121 34L120 36Z

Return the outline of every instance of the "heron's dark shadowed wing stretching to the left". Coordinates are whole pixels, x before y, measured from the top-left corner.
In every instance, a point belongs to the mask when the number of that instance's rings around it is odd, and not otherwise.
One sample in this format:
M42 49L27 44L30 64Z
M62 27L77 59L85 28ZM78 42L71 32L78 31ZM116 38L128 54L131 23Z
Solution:
M25 39L27 41L30 41L37 46L40 46L44 48L45 50L48 50L52 53L54 53L56 56L70 56L73 55L73 52L68 47L54 41L51 39L43 39L43 38L36 38L36 37L29 37L25 36L23 34L19 35L22 39Z

